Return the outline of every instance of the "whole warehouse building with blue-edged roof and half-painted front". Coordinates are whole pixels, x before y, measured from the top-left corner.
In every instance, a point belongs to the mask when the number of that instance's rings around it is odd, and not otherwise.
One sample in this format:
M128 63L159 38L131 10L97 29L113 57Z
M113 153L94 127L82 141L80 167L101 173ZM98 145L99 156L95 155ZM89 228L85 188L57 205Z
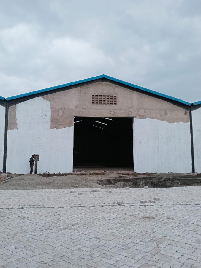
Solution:
M2 97L0 115L4 172L28 173L30 156L39 154L38 173L91 166L189 173L194 151L200 171L201 102L191 105L107 75Z

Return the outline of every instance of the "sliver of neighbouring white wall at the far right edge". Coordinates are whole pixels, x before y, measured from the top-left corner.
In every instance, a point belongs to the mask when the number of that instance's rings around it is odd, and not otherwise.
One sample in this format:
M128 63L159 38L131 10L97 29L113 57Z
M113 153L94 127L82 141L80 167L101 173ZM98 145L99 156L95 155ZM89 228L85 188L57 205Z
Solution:
M195 172L201 173L201 108L192 111Z

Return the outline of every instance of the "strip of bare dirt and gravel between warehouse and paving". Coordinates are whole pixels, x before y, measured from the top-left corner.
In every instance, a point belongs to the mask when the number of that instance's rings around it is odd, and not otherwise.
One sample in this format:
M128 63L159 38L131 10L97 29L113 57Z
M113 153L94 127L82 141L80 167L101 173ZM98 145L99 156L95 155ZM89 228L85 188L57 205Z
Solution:
M77 185L77 186L75 186ZM62 189L62 188L141 188L143 186L181 187L201 186L201 176L152 174L138 175L133 172L95 172L94 174L76 174L43 177L37 174L25 174L0 183L0 190L23 189Z

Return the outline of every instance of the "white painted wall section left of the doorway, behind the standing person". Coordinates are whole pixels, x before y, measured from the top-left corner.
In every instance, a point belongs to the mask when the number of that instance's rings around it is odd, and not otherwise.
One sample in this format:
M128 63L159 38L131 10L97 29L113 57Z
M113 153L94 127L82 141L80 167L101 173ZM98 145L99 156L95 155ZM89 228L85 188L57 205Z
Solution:
M32 154L40 155L37 173L72 171L73 127L50 129L49 101L37 97L17 104L16 119L18 129L8 130L7 172L29 173Z

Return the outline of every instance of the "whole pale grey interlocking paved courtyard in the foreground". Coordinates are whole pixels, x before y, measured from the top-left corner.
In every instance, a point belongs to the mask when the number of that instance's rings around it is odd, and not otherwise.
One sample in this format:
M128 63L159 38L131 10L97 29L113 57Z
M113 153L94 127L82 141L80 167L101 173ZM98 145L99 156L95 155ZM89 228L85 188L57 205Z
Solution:
M201 267L200 186L8 190L0 208L0 267Z

